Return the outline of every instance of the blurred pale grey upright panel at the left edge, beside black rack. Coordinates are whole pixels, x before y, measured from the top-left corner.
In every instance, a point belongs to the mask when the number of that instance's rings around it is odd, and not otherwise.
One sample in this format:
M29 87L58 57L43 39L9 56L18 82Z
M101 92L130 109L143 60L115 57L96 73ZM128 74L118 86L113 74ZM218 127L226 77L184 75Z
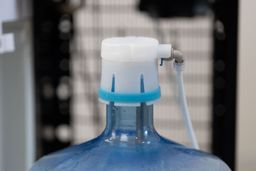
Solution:
M3 28L16 49L0 55L0 171L26 171L34 160L31 29L27 20Z

